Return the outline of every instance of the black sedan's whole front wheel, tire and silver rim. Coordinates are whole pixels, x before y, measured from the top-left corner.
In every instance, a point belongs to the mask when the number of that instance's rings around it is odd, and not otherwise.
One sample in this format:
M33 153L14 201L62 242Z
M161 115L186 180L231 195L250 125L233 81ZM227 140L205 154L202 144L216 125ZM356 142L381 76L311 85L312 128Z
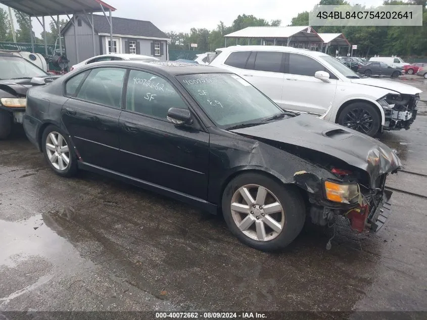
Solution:
M305 222L305 204L298 192L254 172L229 182L222 196L222 212L233 235L262 251L288 246Z

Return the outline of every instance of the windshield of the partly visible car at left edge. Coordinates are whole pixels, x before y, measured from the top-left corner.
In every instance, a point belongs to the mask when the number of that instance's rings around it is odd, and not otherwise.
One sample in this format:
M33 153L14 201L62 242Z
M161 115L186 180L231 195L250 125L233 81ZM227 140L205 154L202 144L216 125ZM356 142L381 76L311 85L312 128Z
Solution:
M1 79L25 79L48 75L31 62L19 57L0 57Z

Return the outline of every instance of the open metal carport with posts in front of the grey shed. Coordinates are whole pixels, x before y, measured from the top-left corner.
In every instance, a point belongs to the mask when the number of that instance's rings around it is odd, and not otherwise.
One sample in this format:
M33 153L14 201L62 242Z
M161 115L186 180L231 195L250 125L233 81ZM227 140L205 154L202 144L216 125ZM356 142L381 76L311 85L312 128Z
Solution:
M32 32L31 17L35 17L38 22L43 27L43 32L46 31L44 17L50 16L54 21L53 16L57 16L55 21L58 27L58 36L59 36L59 45L62 55L62 43L61 43L61 30L59 25L59 16L66 15L70 22L74 26L74 42L76 45L76 58L77 62L79 61L78 50L77 50L77 39L76 39L76 26L75 26L75 16L76 14L85 14L87 20L92 27L92 42L93 42L93 55L96 54L95 51L95 37L93 30L93 17L94 12L102 12L110 24L110 41L113 43L113 24L111 19L111 12L116 11L115 8L106 4L101 0L0 0L1 4L4 4L10 8L18 10L19 14L22 13L30 16L29 19L29 28L30 28L30 37L31 37L31 46L32 52L34 53L34 37ZM107 17L106 12L109 12L109 17ZM73 15L73 19L70 18L70 14ZM90 19L89 15L90 14ZM39 19L41 17L41 21ZM48 56L48 43L46 37L44 37L44 51L46 56Z

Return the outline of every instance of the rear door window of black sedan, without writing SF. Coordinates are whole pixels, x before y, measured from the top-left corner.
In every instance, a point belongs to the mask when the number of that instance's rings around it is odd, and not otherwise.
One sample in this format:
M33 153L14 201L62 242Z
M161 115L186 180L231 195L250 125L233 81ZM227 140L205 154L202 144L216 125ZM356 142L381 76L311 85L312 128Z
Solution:
M84 80L77 98L109 107L121 108L123 78L126 69L92 69Z

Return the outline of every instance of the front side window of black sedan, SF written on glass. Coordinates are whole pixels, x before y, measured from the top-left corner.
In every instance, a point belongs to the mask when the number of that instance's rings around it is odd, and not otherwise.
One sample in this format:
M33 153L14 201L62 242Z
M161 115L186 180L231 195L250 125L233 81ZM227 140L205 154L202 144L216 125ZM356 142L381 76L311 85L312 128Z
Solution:
M145 71L130 71L126 110L166 119L170 108L188 109L169 82Z

